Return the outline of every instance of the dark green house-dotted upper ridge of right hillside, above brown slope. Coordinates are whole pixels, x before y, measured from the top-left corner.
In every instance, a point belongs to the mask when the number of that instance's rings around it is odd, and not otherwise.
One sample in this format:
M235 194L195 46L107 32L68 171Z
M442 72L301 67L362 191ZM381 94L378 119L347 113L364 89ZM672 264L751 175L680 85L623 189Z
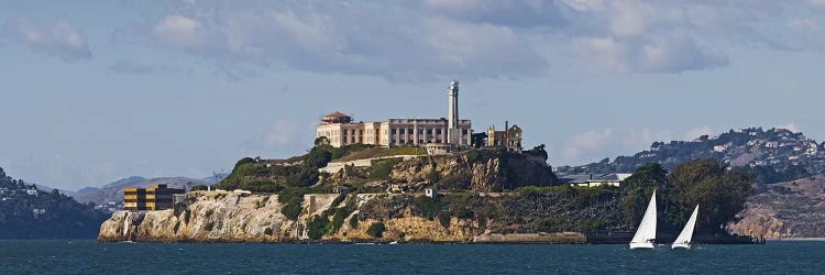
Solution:
M695 158L716 158L734 167L745 167L757 175L757 183L774 184L825 173L825 143L817 144L785 129L749 128L694 141L654 142L649 150L632 156L561 166L557 174L632 173L646 163L672 168Z

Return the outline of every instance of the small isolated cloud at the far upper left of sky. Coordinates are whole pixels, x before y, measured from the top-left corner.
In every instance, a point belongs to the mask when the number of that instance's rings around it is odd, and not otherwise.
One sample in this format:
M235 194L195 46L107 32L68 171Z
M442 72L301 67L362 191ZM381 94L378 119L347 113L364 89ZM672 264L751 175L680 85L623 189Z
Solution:
M3 38L66 62L91 59L86 36L67 21L38 24L28 19L8 20L0 29L0 41Z

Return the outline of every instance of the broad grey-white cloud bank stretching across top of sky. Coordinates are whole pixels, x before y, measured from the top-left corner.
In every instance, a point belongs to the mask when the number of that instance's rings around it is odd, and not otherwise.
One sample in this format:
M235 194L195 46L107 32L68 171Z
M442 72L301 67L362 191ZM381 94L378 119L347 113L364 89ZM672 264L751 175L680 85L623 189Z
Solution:
M177 0L168 7L162 19L113 37L148 36L150 44L215 61L231 78L276 66L402 81L518 78L566 62L540 54L547 48L595 68L671 74L725 67L735 62L725 54L732 45L825 51L821 35L787 31L818 28L789 26L785 11L810 9L804 1Z

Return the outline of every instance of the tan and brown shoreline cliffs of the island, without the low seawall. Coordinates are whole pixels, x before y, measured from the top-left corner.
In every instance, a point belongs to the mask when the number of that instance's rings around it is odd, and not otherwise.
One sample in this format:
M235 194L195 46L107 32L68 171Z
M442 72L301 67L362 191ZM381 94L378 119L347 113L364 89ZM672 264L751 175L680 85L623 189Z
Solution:
M146 242L289 242L307 240L305 230L308 217L329 209L337 194L306 195L304 212L298 222L280 213L277 196L194 193L185 209L129 212L119 211L100 227L99 241ZM358 197L360 204L371 195ZM358 213L358 212L355 212ZM354 216L355 213L351 215ZM463 242L472 241L479 233L477 224L454 219L449 227L438 221L407 217L384 221L382 238L370 237L366 231L374 220L349 224L320 241L417 241Z

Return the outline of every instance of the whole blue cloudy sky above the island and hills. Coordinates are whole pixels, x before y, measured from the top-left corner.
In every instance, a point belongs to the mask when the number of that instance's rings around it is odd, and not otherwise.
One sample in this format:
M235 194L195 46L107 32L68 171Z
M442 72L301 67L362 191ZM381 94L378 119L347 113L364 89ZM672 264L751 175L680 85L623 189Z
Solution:
M505 121L553 166L747 127L825 140L825 0L0 0L0 167L206 177L321 116Z

